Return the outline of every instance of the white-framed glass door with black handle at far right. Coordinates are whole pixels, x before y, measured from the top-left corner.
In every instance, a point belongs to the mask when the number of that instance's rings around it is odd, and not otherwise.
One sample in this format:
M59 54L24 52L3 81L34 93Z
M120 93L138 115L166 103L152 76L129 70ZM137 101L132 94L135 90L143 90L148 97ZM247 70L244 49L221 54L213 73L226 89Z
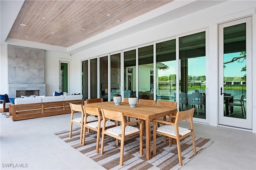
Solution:
M247 94L252 94L250 21L249 17L219 25L219 123L247 129L252 128L247 110Z

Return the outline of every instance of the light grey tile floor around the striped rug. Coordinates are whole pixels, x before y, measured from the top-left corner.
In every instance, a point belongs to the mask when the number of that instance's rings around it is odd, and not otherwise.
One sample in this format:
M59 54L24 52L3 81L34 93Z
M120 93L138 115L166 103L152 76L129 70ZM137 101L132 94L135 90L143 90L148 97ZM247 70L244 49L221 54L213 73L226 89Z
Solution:
M69 129L70 114L22 121L0 115L0 121L0 169L104 169L53 134ZM200 123L194 123L194 128L196 136L213 139L214 143L181 170L256 169L255 133ZM6 167L11 164L27 167Z

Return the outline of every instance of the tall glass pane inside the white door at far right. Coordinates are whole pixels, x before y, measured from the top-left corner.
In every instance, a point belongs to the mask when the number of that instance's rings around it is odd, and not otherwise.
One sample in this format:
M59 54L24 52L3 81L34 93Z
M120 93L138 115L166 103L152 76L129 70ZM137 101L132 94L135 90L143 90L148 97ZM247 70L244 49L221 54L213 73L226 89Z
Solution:
M223 64L224 116L246 119L246 23L224 28Z

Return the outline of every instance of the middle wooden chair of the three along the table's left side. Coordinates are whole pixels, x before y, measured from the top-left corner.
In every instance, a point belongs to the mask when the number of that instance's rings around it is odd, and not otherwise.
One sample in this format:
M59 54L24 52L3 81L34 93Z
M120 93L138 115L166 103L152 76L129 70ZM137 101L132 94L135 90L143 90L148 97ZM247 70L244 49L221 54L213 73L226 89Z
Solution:
M100 143L100 134L101 134L101 129L102 129L102 116L100 113L100 109L97 107L88 107L84 106L84 113L85 113L85 120L84 120L84 129L83 129L83 138L82 138L82 145L85 145L85 132L86 128L87 129L92 129L93 131L97 132L97 138L96 138L96 153L99 152L99 143ZM98 117L98 121L93 121L93 122L87 122L88 117ZM114 127L116 126L116 123L113 121L106 121L105 127Z

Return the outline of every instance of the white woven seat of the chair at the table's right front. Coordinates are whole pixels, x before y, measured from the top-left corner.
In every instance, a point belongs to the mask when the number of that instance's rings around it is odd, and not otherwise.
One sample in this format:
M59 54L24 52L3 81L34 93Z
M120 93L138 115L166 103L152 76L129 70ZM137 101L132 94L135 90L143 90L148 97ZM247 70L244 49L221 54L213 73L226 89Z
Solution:
M172 136L176 136L175 128L172 125L164 125L164 126L158 127L156 128L156 131L166 133ZM179 134L182 136L190 132L191 132L190 129L179 127Z

